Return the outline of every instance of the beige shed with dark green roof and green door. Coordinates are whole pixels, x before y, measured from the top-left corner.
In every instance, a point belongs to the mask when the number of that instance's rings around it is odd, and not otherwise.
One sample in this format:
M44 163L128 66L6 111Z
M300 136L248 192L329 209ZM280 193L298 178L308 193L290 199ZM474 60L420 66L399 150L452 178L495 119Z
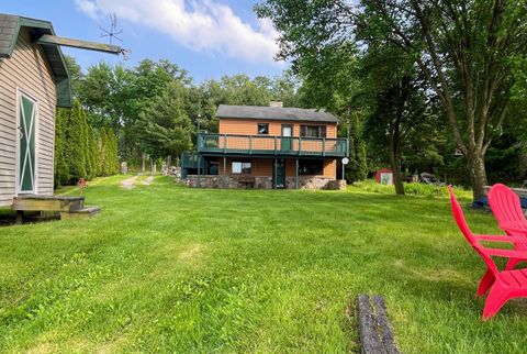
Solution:
M36 40L51 22L0 14L0 206L53 195L55 108L71 106L60 47Z

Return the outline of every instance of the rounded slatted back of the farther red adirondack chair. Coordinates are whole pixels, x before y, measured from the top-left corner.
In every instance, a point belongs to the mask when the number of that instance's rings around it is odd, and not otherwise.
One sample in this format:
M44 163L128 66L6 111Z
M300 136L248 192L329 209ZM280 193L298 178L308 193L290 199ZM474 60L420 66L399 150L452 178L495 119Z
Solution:
M492 186L489 191L489 204L500 224L525 221L519 197L502 184Z

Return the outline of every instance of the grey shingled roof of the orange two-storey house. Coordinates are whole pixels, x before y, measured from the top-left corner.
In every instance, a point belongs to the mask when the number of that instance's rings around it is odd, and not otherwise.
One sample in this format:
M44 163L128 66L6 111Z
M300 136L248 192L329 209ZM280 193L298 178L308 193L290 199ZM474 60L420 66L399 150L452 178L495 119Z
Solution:
M260 119L276 121L305 121L337 123L338 119L323 110L289 108L289 107L260 107L260 106L229 106L220 104L217 118Z

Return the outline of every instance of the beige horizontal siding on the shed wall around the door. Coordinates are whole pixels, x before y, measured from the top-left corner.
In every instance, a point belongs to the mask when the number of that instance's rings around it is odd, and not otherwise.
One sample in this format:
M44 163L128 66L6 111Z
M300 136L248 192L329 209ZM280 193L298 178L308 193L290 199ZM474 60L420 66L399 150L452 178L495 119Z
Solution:
M56 89L40 45L22 27L11 58L0 58L0 206L15 196L16 88L37 100L36 192L53 195Z

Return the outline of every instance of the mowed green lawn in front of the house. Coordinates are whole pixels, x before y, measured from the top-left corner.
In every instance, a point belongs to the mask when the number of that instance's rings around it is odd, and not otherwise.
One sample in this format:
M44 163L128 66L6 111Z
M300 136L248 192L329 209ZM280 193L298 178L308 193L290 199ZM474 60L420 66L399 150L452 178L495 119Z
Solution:
M357 352L361 292L385 296L404 353L527 347L524 302L480 320L484 265L446 198L124 178L87 188L94 219L0 228L0 351Z

